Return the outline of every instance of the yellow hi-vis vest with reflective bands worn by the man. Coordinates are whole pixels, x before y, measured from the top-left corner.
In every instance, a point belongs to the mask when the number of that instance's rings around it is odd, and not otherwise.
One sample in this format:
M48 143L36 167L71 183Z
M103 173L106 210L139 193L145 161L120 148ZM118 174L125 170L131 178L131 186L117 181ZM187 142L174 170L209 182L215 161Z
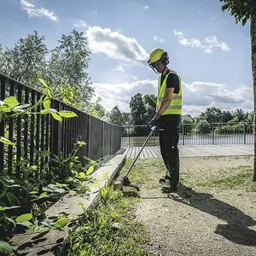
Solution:
M157 102L156 102L156 105L157 105L158 108L160 108L160 104L166 96L166 81L167 81L168 75L170 73L176 73L176 72L170 71L169 73L167 73L166 79L163 81L162 85L160 84L162 74L160 74L160 76L159 76L159 79L158 79L158 97L157 97ZM181 86L180 77L179 76L177 76L177 77L178 77L178 80L179 80L179 91L178 91L178 93L174 93L174 92L172 93L172 99L169 103L169 106L162 113L162 115L164 115L164 114L181 114L182 113L182 86Z

